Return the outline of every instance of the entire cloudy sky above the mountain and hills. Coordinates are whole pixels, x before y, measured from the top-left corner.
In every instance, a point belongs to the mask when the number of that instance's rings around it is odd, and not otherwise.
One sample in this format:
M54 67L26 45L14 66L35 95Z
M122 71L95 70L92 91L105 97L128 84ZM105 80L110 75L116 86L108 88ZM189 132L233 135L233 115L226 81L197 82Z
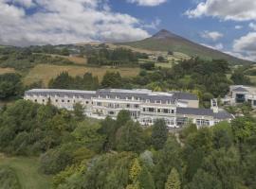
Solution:
M0 0L0 43L124 42L166 28L256 60L256 0Z

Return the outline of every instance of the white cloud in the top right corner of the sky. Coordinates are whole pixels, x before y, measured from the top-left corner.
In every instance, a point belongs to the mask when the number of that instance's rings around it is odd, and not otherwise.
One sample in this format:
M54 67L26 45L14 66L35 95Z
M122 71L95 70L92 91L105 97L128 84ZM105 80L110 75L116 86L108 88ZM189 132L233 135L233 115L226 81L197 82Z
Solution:
M190 18L213 16L224 20L248 21L256 20L255 0L206 0L189 9Z

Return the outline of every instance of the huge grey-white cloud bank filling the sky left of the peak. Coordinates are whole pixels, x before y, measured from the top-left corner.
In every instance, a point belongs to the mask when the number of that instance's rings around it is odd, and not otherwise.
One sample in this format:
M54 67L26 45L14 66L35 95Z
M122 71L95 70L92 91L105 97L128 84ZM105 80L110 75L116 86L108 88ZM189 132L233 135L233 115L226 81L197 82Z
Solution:
M0 43L122 42L149 37L137 18L113 12L104 2L107 1L0 0ZM27 14L30 7L38 11Z

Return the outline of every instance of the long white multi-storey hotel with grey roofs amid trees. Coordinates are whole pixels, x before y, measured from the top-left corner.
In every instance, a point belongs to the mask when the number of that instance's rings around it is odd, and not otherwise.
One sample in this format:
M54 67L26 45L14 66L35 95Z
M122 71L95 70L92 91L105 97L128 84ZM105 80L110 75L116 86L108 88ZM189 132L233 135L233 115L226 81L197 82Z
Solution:
M150 90L101 89L98 91L32 89L25 93L25 99L46 104L49 100L54 106L73 110L76 103L84 107L84 114L103 119L114 119L119 111L131 113L141 125L153 125L156 119L164 119L170 129L181 128L188 122L200 126L213 126L220 121L230 121L233 116L221 111L212 100L211 109L199 109L196 95L170 92L158 93Z

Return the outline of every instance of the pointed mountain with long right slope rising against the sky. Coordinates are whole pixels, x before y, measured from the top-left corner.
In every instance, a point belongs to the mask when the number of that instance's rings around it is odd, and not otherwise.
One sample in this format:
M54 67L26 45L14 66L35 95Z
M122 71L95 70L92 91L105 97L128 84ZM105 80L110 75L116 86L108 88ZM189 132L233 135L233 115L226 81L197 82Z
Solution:
M251 61L241 60L232 57L218 50L211 49L207 46L193 43L183 37L180 37L165 29L160 30L151 38L131 43L119 43L120 45L129 45L136 48L142 48L154 51L174 51L187 54L191 57L198 56L202 59L223 59L228 60L231 64L250 64Z

